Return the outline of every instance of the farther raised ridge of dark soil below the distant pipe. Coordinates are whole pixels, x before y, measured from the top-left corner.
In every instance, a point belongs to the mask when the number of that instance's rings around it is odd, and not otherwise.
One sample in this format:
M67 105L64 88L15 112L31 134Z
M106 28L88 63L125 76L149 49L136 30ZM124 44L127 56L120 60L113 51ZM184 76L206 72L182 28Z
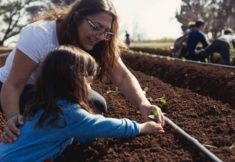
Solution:
M231 104L235 109L235 68L200 65L124 52L126 64L164 82Z

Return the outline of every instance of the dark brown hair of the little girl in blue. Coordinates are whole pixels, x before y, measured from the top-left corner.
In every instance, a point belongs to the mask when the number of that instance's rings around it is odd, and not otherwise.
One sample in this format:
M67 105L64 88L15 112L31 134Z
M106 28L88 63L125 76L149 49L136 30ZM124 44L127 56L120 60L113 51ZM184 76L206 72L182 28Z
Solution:
M44 121L48 124L63 115L62 108L57 103L65 99L78 103L91 112L88 106L87 77L96 73L96 62L85 51L72 46L61 46L46 57L40 75L36 81L33 104L25 111L26 117L33 117L39 109L43 113L38 124Z

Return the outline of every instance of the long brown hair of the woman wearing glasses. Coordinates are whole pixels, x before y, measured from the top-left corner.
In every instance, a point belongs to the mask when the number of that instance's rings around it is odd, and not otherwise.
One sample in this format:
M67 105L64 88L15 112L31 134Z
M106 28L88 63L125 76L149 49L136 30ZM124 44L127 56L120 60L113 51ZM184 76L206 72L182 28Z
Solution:
M77 28L87 16L100 12L106 12L112 16L111 31L114 33L114 36L109 41L98 43L92 51L89 51L99 65L99 78L112 70L120 53L117 39L117 14L111 0L76 0L67 8L55 8L49 14L37 19L56 20L60 22L61 28L58 32L60 45L75 45L79 47L79 33Z

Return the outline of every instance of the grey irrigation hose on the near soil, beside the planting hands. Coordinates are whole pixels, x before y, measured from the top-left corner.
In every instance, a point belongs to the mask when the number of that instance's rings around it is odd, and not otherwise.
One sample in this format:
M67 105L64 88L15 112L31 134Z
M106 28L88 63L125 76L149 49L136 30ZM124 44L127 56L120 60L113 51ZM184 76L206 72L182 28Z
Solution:
M172 120L165 116L165 121L171 127L173 127L179 134L181 134L184 138L186 138L189 142L194 144L201 152L203 152L210 160L213 162L222 162L216 155L210 152L207 148L205 148L197 139L190 136L183 129L181 129L178 125L176 125Z

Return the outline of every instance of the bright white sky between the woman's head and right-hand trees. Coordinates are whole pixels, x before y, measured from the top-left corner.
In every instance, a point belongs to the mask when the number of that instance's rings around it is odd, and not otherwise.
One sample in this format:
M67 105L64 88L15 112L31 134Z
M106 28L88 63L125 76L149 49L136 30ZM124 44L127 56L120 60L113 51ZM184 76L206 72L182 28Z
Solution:
M177 38L181 24L175 19L181 0L113 0L120 23L120 37L125 30L130 36L145 40Z

